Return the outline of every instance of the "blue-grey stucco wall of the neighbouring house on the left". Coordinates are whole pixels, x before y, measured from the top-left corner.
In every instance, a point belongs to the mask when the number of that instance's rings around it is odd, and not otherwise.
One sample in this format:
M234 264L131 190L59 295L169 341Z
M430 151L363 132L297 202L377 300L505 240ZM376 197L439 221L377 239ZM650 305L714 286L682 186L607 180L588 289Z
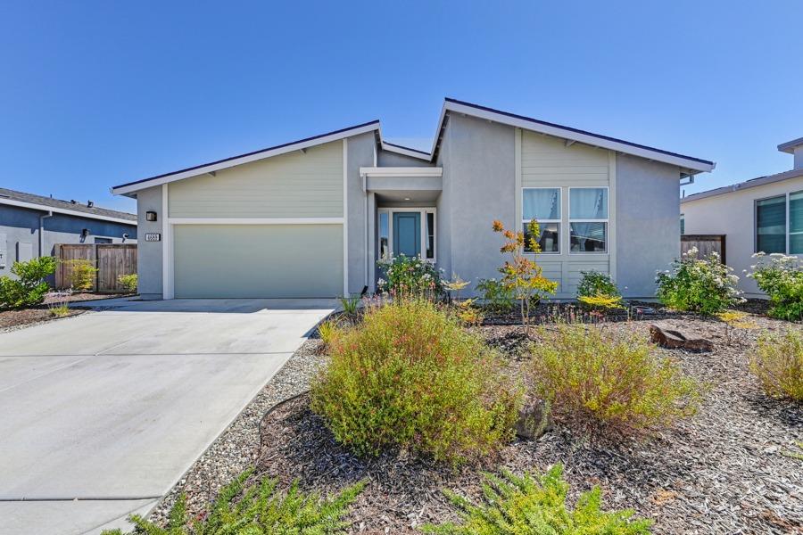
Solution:
M30 243L34 258L39 256L39 217L46 215L44 210L30 210L14 206L0 206L0 251L4 251L4 267L0 268L0 276L10 275L14 261L17 260L18 243ZM137 226L103 221L101 219L79 218L54 213L44 220L45 236L43 254L54 254L56 243L95 243L96 237L109 238L112 243L123 241L128 234L128 243L137 242ZM81 231L89 229L89 237L81 242ZM54 281L51 280L51 283Z

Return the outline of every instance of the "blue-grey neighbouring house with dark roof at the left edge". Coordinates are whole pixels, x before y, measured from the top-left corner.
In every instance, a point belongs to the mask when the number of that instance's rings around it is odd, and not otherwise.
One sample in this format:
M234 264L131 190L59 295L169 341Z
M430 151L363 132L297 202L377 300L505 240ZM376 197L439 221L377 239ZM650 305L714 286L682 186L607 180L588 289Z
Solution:
M15 261L51 256L55 243L137 241L137 216L0 188L0 276Z

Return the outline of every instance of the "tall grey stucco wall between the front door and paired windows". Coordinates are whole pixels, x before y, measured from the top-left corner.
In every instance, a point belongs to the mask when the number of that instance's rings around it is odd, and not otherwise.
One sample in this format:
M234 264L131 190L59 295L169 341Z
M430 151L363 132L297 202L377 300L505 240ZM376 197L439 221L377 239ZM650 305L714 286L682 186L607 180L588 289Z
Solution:
M512 227L516 217L515 129L452 114L439 161L439 266L474 288L479 278L499 276L501 238L493 220Z

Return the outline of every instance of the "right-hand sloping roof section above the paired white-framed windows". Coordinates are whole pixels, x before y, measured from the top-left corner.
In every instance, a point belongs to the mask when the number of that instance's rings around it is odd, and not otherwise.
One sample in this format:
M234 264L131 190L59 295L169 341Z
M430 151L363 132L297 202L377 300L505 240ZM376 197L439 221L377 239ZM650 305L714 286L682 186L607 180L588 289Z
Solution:
M559 124L547 122L541 119L533 119L524 115L517 115L509 111L494 110L487 106L479 104L467 103L459 101L454 98L446 97L443 103L443 110L441 111L441 119L438 121L437 134L432 144L433 158L437 156L437 150L440 145L441 137L443 136L444 121L448 112L458 112L477 117L480 119L489 119L501 124L506 124L511 127L524 128L526 130L533 130L550 136L562 137L583 144L590 144L604 149L610 149L617 152L624 152L625 154L632 154L633 156L640 156L649 160L661 161L672 165L677 165L680 168L688 169L690 174L694 172L711 171L716 167L713 161L701 160L692 156L686 156L677 152L669 152L663 149L656 149L643 144L637 144L616 137L603 136L601 134L594 134L580 130L579 128L565 127Z

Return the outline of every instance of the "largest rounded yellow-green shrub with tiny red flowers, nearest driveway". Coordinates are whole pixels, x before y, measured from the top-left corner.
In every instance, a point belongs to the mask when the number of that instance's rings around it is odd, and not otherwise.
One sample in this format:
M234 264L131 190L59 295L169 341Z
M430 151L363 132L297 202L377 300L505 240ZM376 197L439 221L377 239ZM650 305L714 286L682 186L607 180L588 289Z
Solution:
M501 359L427 300L394 300L330 340L312 408L360 455L400 447L454 464L512 438L521 392Z

